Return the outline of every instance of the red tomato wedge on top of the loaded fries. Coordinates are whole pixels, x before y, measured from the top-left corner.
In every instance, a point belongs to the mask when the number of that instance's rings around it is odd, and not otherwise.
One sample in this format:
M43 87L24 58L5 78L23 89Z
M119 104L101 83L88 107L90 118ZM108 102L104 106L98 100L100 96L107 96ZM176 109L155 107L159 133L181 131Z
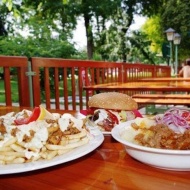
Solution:
M36 121L40 115L40 107L35 107L32 114L28 118L18 118L14 122L16 125L28 124L32 121Z

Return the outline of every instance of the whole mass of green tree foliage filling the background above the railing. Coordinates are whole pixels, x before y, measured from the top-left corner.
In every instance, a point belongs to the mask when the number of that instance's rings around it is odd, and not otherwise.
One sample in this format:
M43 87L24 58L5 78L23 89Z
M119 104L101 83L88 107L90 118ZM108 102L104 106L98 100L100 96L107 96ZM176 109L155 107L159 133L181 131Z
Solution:
M183 57L188 54L190 45L188 0L3 0L3 2L0 7L0 34L3 37L7 35L9 43L11 37L17 45L17 41L21 41L20 44L27 42L33 46L34 50L31 48L30 51L35 55L38 51L43 56L66 56L68 50L69 56L78 57L74 44L70 41L79 17L83 18L86 29L88 59L101 57L102 60L124 62L139 59L156 64L158 62L156 55L161 52L162 44L166 43L163 31L169 27L182 35L181 57L182 53ZM134 22L135 14L147 16L149 19L142 31L131 33L129 28ZM11 20L7 19L8 17L11 17ZM21 40L15 32L18 30L27 30L28 39ZM147 43L150 41L151 46ZM6 48L2 43L5 43L5 38L1 40L0 45ZM40 48L44 48L44 51ZM85 57L83 55L84 52L82 57Z

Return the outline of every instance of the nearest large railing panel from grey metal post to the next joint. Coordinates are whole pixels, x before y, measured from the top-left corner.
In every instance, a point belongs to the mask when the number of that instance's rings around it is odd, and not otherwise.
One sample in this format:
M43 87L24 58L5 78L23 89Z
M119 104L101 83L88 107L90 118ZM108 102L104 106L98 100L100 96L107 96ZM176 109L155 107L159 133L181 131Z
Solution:
M122 65L117 63L36 57L31 59L31 66L36 73L34 106L43 102L46 108L76 110L78 105L83 109L90 96L83 91L84 85L122 80Z

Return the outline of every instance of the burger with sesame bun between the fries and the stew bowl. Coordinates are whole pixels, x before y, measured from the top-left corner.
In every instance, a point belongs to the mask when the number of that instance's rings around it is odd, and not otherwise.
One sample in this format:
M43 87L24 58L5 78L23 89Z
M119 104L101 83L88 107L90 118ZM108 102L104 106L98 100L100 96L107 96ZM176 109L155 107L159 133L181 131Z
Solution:
M102 131L111 131L115 125L142 117L137 110L137 102L127 94L119 92L93 95L88 101L88 107L88 122Z

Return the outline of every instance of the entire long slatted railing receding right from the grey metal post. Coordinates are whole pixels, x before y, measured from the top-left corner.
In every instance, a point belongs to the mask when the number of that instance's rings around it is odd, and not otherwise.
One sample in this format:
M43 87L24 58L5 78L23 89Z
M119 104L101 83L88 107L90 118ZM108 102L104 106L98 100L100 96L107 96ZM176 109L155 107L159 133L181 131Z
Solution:
M6 57L6 56L4 56ZM10 57L11 60L11 57ZM47 108L56 109L83 109L85 101L96 92L83 90L84 85L109 82L136 81L147 77L170 77L170 67L148 64L114 63L91 60L68 60L58 58L33 57L28 72L32 74L32 101L31 106L44 103ZM30 65L30 64L29 64ZM0 61L0 67L2 62ZM12 63L14 66L14 63ZM20 72L20 71L19 71ZM26 77L26 75L25 75ZM10 79L8 79L10 80ZM22 78L22 80L24 80ZM28 80L25 80L25 82ZM25 91L23 84L19 89ZM61 84L61 86L60 86ZM27 92L29 86L25 86ZM19 97L23 106L26 96ZM84 99L84 97L86 99ZM27 95L28 98L28 95ZM32 103L31 103L32 102ZM54 107L52 107L54 106Z

